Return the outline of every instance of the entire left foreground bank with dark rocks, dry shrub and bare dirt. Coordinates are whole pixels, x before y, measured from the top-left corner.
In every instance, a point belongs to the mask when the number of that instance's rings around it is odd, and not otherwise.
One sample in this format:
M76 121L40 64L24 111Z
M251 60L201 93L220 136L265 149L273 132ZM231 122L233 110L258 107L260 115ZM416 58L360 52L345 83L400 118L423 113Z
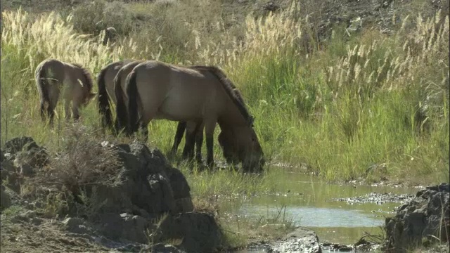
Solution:
M141 143L81 134L51 154L14 138L1 150L1 179L2 251L212 252L223 244L214 217L193 212L181 171Z

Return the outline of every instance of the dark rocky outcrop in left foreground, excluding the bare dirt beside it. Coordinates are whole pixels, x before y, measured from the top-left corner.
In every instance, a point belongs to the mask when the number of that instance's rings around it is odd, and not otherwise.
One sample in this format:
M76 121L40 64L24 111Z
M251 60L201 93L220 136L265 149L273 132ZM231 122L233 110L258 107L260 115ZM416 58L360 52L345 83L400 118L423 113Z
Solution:
M77 143L79 141L86 140L77 139ZM32 187L25 188L34 188L34 192L20 201L38 203L33 197L39 197L39 194L50 196L50 193L65 190L65 195L72 197L61 200L68 202L64 213L58 213L67 217L60 222L62 231L98 241L105 247L125 245L123 247L127 250L151 248L157 252L212 252L221 245L222 234L214 217L193 212L191 188L186 178L167 162L158 149L149 149L141 143L128 145L106 141L91 141L79 147L82 150L70 149L55 159L49 159L46 150L30 137L8 141L0 154L1 178L8 181L6 188L1 188L1 209L11 205L8 188L20 193L23 184L31 183L34 184ZM92 157L83 157L86 153L84 147L90 148L89 153L102 157L98 160L100 164L74 161ZM112 159L117 160L117 164L101 164L102 160ZM65 176L58 181L55 174L63 171L58 166L64 164L73 165L73 168L69 166L70 169L65 168L65 174L58 174ZM47 165L49 168L44 169ZM98 183L106 177L101 175L101 169L94 167L107 169L108 176L113 174L120 183ZM94 169L96 171L92 173ZM76 172L71 176L73 171ZM47 180L49 176L53 176L51 180ZM82 183L73 183L81 177L90 181L83 179ZM55 181L59 183L53 185ZM60 186L65 183L69 185ZM178 245L166 245L172 241Z

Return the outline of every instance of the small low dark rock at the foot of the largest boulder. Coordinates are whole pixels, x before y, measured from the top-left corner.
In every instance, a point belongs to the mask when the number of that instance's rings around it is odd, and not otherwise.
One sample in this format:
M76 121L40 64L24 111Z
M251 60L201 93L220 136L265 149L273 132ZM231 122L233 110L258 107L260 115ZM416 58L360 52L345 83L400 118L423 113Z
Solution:
M147 243L148 221L132 214L102 214L98 219L101 232L111 240Z

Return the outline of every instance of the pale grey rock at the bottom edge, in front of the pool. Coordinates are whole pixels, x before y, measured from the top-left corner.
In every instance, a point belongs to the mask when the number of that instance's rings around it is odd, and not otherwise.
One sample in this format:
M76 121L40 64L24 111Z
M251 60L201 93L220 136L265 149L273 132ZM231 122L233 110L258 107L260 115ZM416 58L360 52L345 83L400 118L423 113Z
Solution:
M314 231L306 228L297 228L297 230L289 233L283 240L274 242L267 252L306 252L306 253L321 253L321 245L319 238Z

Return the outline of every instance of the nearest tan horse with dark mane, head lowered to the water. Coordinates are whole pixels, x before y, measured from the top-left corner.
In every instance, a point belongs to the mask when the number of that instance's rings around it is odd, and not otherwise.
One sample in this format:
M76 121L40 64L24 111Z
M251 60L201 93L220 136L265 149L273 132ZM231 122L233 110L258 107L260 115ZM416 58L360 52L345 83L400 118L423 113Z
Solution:
M231 152L246 170L264 167L264 153L241 96L224 72L214 66L181 67L158 60L136 65L127 76L128 106L117 103L117 118L127 122L128 135L152 119L203 124L207 164L214 164L213 137L217 123L225 130ZM128 110L128 114L126 113ZM138 113L141 117L138 118ZM188 145L192 145L189 143Z

